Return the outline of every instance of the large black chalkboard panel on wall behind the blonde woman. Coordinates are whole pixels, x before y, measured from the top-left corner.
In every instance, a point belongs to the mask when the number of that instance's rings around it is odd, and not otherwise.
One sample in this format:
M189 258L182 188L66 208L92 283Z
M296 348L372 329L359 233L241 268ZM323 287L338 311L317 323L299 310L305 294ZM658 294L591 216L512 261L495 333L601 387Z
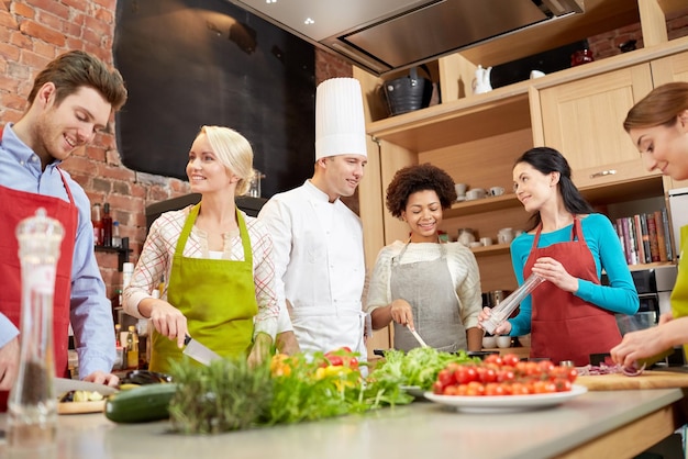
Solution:
M314 48L224 0L119 0L114 60L129 89L118 113L122 163L186 179L203 124L254 147L264 197L314 163Z

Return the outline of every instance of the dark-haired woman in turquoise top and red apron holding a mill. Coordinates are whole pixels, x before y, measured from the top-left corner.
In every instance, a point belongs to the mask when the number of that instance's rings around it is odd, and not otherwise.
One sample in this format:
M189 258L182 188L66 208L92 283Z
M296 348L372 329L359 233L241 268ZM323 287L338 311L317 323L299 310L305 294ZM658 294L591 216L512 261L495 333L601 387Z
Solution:
M582 198L566 158L553 148L525 152L513 167L513 187L533 214L530 231L511 243L513 270L519 284L532 272L547 282L495 333L531 333L531 357L588 365L590 354L609 352L620 342L614 313L639 307L619 237ZM602 269L610 286L600 284ZM480 320L488 316L486 309Z

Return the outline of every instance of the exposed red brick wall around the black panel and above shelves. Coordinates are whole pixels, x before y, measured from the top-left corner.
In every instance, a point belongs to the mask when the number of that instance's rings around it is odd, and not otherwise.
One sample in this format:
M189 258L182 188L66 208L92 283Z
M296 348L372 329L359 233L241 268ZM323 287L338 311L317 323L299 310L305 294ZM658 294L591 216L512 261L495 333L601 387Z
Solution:
M26 108L33 77L69 49L86 49L112 63L116 0L0 0L0 124L19 120ZM618 44L640 35L624 27L590 40L596 57L618 54ZM688 10L669 21L669 37L688 35ZM639 41L639 47L642 41ZM349 77L352 68L329 53L315 54L315 80ZM113 132L113 122L110 132ZM84 187L91 202L110 202L122 236L130 237L133 261L145 237L145 208L189 192L186 181L130 170L120 163L112 134L102 134L88 148L65 161L65 170ZM355 208L354 199L349 205ZM118 257L98 253L108 294L121 282Z

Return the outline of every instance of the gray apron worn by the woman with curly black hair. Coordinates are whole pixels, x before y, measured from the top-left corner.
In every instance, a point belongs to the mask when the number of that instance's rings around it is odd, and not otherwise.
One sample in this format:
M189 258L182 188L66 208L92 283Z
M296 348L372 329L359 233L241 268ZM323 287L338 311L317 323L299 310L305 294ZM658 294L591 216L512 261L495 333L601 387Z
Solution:
M415 331L428 346L446 352L465 350L466 328L446 262L446 248L437 245L440 257L435 260L401 265L408 247L407 244L391 261L391 298L409 302ZM419 346L407 327L395 322L395 348L408 351Z

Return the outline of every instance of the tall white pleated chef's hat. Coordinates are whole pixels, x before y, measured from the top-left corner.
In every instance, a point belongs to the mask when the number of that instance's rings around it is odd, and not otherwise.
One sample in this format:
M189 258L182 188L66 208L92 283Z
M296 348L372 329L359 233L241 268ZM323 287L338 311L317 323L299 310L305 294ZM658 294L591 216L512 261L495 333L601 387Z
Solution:
M331 78L315 90L315 160L347 154L367 156L360 83Z

